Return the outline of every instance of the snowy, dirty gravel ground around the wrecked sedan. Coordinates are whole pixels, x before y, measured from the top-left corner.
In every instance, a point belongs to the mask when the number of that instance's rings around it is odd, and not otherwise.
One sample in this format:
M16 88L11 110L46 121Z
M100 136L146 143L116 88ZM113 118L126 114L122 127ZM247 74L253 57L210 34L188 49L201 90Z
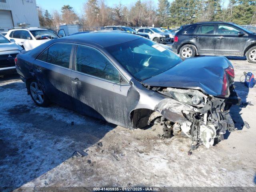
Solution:
M16 76L0 78L0 191L34 187L256 186L256 88L239 82L256 65L229 58L236 91L238 129L212 148L191 156L190 139L158 138L161 128L128 130L52 104L40 108ZM243 128L246 121L250 129ZM255 188L253 188L255 189Z

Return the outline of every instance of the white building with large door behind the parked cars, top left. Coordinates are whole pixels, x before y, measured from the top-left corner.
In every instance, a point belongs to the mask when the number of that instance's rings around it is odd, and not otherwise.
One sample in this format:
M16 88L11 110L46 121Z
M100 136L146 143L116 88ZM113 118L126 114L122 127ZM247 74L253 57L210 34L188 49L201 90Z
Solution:
M36 0L0 0L0 32L39 26Z

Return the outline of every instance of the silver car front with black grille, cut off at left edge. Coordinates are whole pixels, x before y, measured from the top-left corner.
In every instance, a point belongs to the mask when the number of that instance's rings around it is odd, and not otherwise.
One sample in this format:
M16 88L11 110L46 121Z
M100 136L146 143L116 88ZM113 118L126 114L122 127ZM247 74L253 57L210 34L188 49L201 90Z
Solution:
M0 34L0 74L9 70L15 70L14 58L24 49L15 42L10 42Z

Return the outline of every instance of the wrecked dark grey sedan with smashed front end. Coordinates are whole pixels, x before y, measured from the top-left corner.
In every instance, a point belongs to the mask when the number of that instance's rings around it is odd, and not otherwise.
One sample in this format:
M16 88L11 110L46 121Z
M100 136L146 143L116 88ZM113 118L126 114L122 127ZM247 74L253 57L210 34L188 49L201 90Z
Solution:
M229 108L239 98L225 57L183 61L140 36L91 32L18 54L16 69L38 106L55 102L131 129L161 122L164 136L181 128L206 147L234 130Z

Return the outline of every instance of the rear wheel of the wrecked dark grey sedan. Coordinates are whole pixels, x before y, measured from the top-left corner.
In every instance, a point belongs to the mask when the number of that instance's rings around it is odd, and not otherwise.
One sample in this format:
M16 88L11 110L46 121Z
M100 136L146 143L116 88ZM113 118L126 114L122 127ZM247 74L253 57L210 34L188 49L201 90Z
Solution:
M31 80L28 84L28 88L30 96L36 105L47 107L50 104L50 100L44 93L42 86L36 80Z

